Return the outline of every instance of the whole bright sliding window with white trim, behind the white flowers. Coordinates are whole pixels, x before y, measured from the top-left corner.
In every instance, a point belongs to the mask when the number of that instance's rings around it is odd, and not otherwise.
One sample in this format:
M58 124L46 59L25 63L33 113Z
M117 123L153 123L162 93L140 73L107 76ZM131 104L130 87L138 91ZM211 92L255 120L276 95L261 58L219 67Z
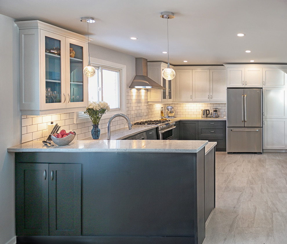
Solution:
M105 101L110 112L102 119L116 113L126 113L126 65L106 60L90 58L96 74L88 79L89 101ZM83 112L75 113L75 123L88 122L90 118Z

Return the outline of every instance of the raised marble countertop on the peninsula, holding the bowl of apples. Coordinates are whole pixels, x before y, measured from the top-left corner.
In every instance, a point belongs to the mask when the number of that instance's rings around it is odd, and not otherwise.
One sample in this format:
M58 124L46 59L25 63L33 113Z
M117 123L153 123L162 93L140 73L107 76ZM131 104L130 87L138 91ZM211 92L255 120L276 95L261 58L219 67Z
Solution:
M30 141L7 149L8 152L185 152L195 153L208 141L177 140L80 140L66 146L47 146L42 141Z

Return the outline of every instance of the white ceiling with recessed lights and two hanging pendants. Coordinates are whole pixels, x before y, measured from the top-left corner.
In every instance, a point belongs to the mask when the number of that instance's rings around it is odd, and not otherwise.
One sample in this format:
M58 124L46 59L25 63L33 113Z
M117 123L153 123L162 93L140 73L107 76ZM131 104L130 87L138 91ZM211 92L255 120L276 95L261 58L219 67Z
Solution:
M93 17L91 43L167 62L162 53L167 51L167 20L160 18L164 11L175 14L168 20L172 65L287 63L287 0L0 1L0 14L21 21L37 19L84 35L87 23L80 18Z

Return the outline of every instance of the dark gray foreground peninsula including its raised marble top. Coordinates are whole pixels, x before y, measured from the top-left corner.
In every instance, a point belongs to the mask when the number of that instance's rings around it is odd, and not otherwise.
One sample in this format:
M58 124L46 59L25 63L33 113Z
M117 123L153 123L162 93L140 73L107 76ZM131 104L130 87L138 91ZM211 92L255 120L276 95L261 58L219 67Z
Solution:
M203 243L207 142L109 142L14 151L17 244Z

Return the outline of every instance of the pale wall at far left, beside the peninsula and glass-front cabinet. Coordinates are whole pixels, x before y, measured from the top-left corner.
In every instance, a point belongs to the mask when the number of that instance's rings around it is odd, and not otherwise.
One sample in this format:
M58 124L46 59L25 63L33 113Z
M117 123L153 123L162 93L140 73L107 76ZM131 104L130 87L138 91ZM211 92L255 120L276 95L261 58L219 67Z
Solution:
M14 154L21 143L19 38L14 19L0 14L0 244L16 243Z

